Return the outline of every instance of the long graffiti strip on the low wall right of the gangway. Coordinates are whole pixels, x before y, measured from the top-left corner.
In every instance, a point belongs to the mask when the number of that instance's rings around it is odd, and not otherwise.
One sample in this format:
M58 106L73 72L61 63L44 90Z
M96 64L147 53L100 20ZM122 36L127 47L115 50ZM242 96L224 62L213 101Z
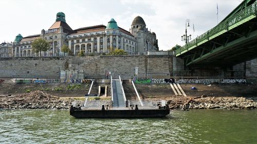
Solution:
M136 84L165 84L165 83L179 83L179 84L232 84L232 83L247 83L246 79L164 79L164 78L153 78L153 79L137 79L133 78Z

